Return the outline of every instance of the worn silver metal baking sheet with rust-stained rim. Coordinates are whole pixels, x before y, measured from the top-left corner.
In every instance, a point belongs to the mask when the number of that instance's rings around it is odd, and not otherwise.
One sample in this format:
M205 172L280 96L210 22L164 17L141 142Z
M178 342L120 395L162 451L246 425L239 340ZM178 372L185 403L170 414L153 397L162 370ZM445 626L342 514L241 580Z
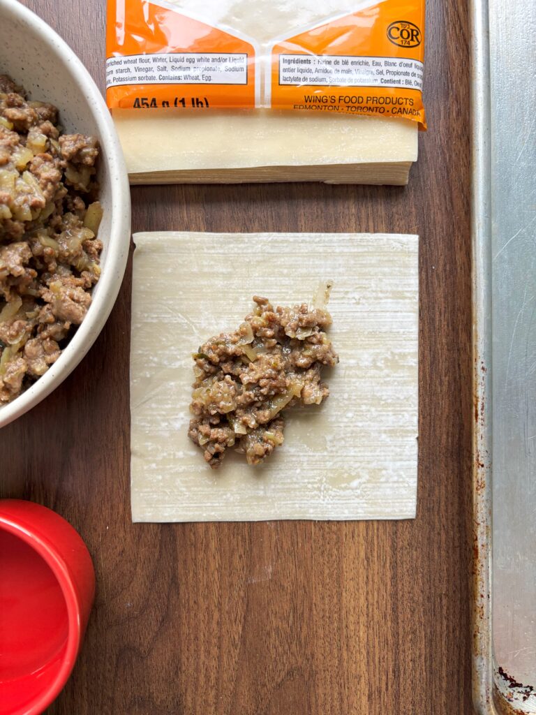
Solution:
M472 0L473 696L536 714L536 3Z

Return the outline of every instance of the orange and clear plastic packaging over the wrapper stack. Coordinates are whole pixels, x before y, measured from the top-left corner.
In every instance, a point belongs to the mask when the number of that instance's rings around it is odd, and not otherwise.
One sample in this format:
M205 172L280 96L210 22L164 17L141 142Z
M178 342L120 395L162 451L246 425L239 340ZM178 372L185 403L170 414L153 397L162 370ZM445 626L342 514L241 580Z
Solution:
M293 13L288 0L281 16L267 0L246 11L243 0L108 0L106 102L365 114L426 129L424 2L299 0Z

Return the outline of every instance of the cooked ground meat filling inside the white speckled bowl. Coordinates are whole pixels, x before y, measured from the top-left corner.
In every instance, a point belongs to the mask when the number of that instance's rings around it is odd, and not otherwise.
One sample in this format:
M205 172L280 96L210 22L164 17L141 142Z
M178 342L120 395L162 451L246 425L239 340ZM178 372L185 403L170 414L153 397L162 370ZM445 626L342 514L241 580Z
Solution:
M99 145L0 75L0 403L60 355L99 280Z

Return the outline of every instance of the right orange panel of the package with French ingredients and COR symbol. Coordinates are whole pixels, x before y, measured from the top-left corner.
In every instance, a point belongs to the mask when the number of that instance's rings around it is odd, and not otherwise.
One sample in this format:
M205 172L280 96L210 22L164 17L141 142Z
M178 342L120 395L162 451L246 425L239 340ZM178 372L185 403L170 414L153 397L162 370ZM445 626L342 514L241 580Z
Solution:
M387 0L278 41L271 106L404 117L425 129L422 10Z

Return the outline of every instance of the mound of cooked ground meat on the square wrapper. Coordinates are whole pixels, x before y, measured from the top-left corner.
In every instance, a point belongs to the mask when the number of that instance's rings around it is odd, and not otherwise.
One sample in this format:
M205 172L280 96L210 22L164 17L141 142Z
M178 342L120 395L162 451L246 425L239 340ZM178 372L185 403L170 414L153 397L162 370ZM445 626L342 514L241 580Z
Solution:
M329 395L324 365L339 362L325 330L327 310L307 304L274 307L254 296L256 307L232 333L199 347L189 438L217 468L234 448L248 464L259 464L283 443L282 411L319 405Z

